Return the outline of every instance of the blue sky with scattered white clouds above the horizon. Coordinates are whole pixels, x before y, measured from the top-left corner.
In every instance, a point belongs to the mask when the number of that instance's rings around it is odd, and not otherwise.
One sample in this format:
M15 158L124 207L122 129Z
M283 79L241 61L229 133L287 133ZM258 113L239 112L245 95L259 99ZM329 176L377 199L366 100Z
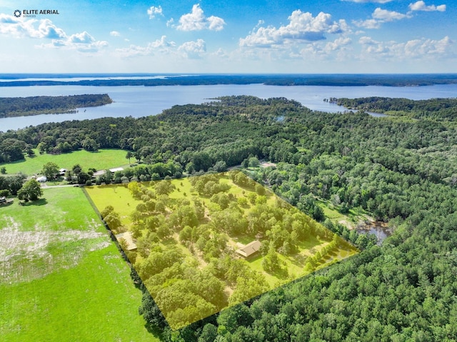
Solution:
M456 19L455 0L3 0L0 73L457 72Z

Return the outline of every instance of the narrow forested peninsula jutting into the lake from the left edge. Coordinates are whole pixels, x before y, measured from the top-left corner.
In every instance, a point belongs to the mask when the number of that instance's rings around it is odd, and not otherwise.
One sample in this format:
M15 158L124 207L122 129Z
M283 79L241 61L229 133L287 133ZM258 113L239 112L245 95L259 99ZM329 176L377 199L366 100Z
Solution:
M0 118L74 113L78 108L103 106L112 102L108 94L1 97Z

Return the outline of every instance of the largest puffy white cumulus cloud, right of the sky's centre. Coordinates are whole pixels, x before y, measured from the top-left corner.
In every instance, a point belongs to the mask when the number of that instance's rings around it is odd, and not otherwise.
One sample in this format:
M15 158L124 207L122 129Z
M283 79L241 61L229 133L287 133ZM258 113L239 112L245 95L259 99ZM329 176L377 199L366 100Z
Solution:
M244 39L240 39L240 46L273 46L286 44L290 41L319 41L326 39L325 34L339 34L347 31L346 21L333 21L330 14L319 13L317 16L309 12L303 13L299 9L288 17L288 25L258 27L258 29Z

